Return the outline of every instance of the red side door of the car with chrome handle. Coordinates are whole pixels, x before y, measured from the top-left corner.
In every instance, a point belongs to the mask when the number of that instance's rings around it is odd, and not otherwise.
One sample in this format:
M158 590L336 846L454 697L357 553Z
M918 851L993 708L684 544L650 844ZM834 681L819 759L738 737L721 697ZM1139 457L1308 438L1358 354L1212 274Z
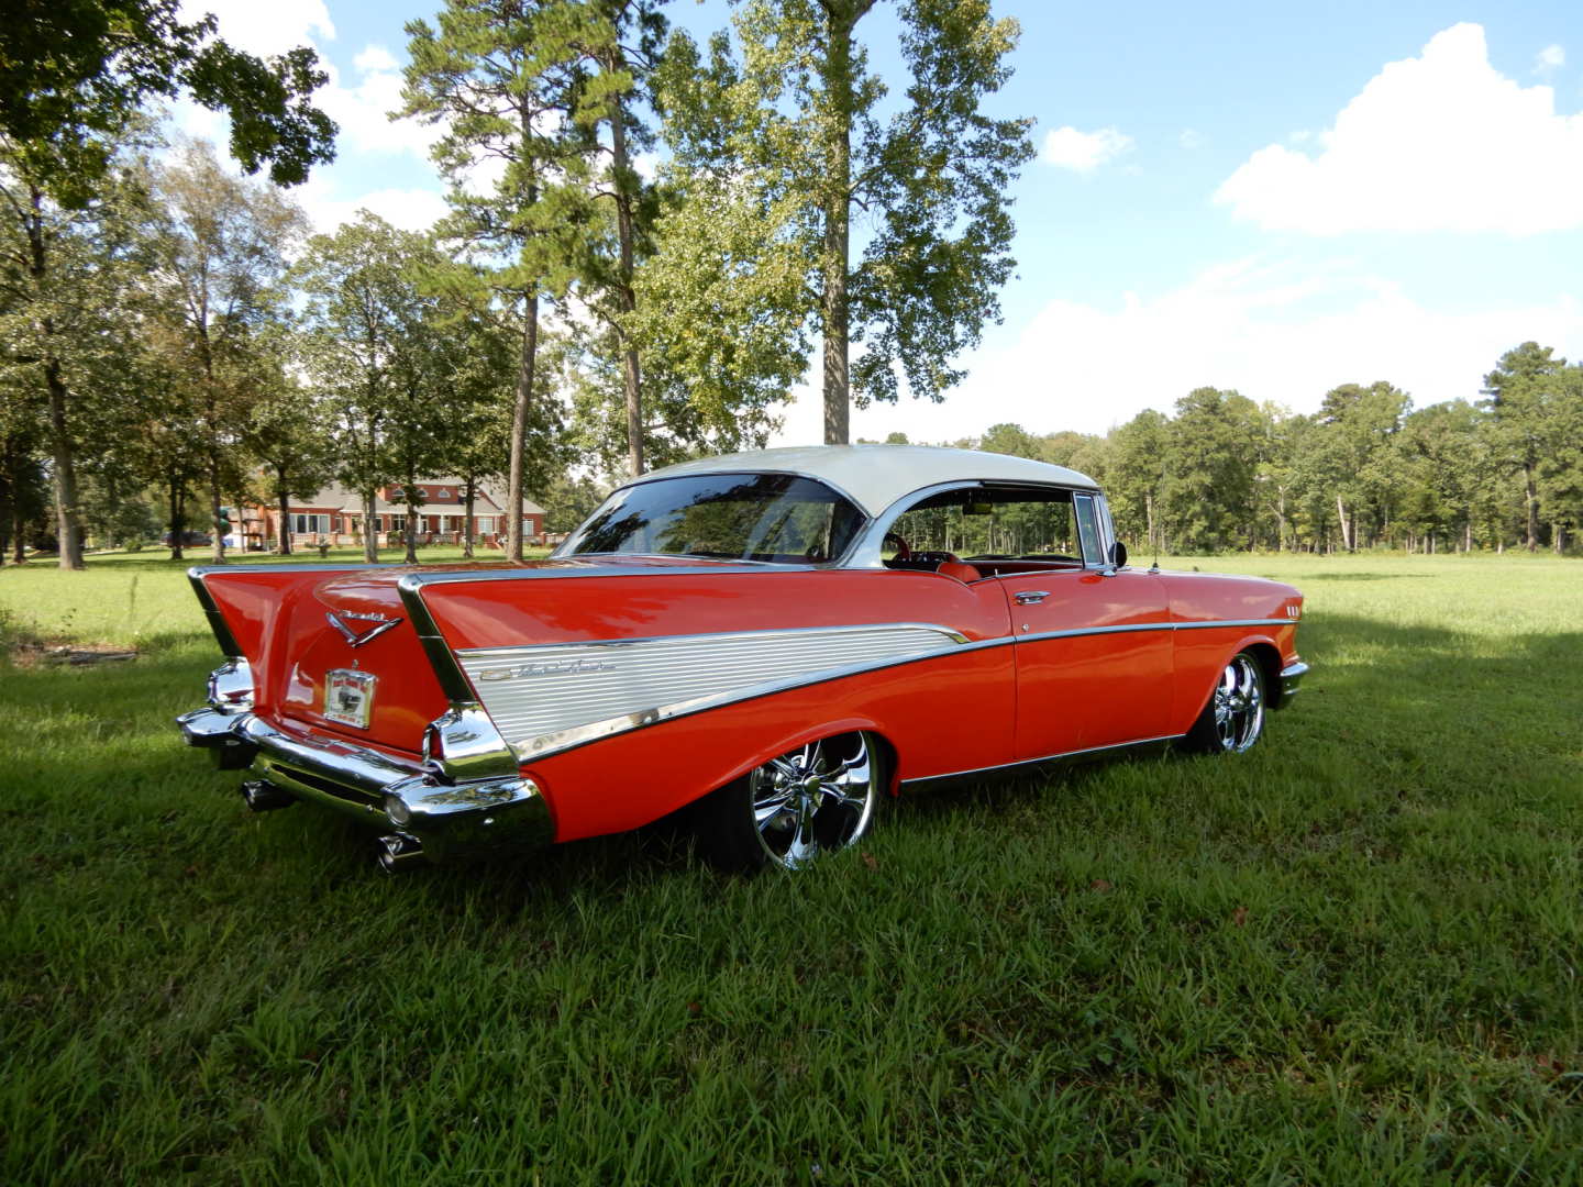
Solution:
M1095 500L1073 510L1083 568L997 578L1016 638L1016 758L1160 738L1171 700L1165 582L1114 570Z

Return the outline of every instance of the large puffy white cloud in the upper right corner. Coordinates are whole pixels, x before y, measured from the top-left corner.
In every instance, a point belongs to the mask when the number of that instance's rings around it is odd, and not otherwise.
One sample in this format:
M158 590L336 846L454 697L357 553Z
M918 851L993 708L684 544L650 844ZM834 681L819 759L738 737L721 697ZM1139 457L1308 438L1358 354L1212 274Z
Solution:
M1265 229L1537 234L1583 226L1578 193L1583 114L1499 74L1461 24L1376 74L1317 155L1260 149L1214 199Z

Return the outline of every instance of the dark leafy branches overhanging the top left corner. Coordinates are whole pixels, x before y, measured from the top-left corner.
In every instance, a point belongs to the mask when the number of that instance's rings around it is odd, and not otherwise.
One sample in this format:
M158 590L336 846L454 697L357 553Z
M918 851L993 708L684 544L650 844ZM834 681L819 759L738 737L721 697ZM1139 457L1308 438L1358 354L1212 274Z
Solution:
M17 0L0 21L0 144L66 207L92 199L127 120L190 93L231 117L231 155L280 185L334 158L336 125L312 106L312 49L261 60L215 38L177 0Z

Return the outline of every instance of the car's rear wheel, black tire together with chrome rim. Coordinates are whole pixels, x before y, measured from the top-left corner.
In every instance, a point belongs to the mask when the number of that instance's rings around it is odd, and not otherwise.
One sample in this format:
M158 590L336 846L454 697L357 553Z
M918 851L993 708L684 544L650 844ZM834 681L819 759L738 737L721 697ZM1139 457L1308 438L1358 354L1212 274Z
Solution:
M799 869L863 837L883 793L885 753L874 734L823 738L700 799L698 851L733 872Z

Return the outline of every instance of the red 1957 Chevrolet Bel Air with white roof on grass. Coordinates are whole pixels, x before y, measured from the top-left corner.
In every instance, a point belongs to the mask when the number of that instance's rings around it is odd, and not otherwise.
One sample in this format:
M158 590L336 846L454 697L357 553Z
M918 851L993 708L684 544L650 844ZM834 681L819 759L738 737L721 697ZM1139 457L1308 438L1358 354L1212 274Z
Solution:
M256 810L366 820L386 869L689 804L720 864L795 867L907 787L1246 750L1308 671L1290 586L1129 568L1089 478L964 449L673 465L522 568L192 582L226 660L185 739Z

